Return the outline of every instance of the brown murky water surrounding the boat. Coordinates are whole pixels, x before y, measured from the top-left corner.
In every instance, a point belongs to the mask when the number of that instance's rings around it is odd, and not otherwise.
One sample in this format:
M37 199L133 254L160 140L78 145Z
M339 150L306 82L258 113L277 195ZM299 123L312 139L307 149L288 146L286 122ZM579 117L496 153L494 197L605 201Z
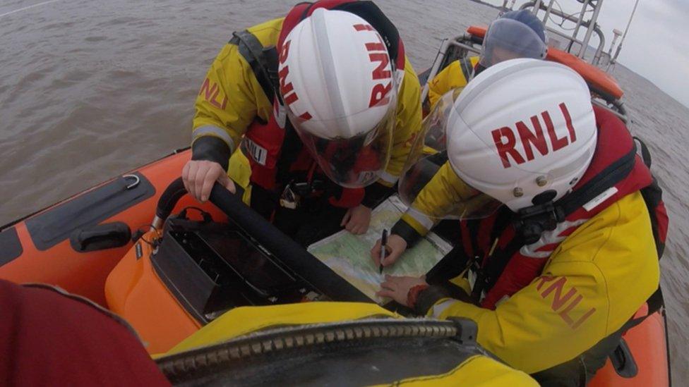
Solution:
M2 2L0 224L187 146L193 99L232 31L284 15L296 2ZM417 70L430 66L441 37L497 15L468 0L377 2ZM666 189L663 284L673 379L681 385L689 376L689 109L623 66L614 75Z

